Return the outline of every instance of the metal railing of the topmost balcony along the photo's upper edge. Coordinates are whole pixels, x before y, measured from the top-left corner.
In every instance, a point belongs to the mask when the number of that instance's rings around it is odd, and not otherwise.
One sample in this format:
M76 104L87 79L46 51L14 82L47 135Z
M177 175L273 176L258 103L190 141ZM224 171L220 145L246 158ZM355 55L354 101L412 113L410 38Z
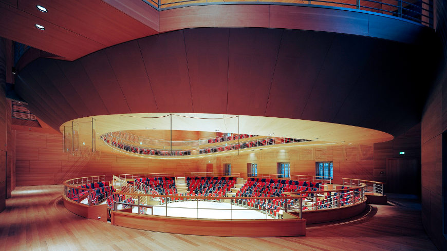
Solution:
M375 12L433 27L433 0L143 0L157 10L193 5L274 4Z

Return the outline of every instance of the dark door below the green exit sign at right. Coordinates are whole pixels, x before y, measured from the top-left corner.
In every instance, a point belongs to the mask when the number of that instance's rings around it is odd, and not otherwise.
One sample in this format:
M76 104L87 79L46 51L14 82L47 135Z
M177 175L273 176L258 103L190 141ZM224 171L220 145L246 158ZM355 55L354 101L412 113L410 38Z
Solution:
M416 194L421 191L421 168L417 159L387 159L386 193Z

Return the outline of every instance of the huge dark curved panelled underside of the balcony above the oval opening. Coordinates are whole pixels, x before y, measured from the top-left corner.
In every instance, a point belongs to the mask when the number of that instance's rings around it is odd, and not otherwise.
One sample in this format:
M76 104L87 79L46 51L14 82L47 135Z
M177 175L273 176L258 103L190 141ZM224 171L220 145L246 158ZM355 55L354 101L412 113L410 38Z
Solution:
M430 66L419 47L338 33L195 28L74 61L38 58L15 79L54 129L106 114L185 112L306 119L399 135L420 122Z

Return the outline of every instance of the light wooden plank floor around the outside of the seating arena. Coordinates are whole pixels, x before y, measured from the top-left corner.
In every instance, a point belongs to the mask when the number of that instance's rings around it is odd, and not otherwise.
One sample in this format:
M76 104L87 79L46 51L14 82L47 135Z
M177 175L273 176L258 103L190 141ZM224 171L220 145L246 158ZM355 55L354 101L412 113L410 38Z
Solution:
M246 238L111 226L70 213L61 193L62 185L17 187L0 213L0 250L436 250L422 228L420 204L405 198L395 198L394 206L368 205L348 222L308 225L305 237Z

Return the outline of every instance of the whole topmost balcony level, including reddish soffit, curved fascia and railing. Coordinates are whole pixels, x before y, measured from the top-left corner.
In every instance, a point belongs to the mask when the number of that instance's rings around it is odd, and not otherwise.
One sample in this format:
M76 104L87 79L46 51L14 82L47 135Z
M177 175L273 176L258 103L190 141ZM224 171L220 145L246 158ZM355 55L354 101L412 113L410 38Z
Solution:
M40 11L37 5L47 11ZM45 30L36 28L36 24ZM0 1L0 36L51 53L46 57L70 61L129 40L201 27L324 31L414 44L433 27L433 3L432 0Z

